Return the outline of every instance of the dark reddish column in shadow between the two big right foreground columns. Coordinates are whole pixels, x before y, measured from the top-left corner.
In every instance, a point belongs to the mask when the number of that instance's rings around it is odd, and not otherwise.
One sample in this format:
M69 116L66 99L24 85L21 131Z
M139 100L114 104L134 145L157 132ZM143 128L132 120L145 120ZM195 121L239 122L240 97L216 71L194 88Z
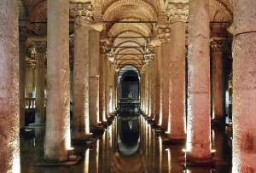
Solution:
M214 123L224 123L223 107L223 64L221 40L213 40L212 47L212 119Z

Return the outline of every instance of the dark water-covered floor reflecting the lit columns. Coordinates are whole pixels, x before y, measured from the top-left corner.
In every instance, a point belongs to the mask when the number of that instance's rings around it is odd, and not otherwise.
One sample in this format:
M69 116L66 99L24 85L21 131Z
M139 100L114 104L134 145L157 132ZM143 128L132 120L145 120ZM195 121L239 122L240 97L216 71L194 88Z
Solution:
M120 113L92 146L73 145L81 160L73 167L38 167L44 157L44 128L20 135L21 173L231 173L231 141L224 130L212 129L216 165L186 166L178 161L184 146L165 146L142 116ZM31 130L31 131L30 131Z

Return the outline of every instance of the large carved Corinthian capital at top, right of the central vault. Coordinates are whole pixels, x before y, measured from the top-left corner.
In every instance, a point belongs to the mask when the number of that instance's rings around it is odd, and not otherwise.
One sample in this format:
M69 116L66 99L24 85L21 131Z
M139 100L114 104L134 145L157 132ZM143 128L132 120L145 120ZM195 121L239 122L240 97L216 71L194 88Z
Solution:
M166 0L168 20L172 22L186 22L189 15L189 1Z

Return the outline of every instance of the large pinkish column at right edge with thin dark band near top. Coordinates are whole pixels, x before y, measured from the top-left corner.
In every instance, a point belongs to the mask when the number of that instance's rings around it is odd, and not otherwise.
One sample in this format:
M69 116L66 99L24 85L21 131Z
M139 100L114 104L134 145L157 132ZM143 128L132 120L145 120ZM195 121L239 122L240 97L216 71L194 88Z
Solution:
M256 171L256 1L236 1L233 38L233 172Z

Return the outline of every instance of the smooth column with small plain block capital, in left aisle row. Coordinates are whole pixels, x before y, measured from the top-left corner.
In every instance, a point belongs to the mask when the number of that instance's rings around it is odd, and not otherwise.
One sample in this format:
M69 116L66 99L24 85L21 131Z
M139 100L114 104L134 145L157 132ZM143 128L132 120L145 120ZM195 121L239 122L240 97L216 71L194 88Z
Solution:
M101 24L94 24L89 37L89 115L90 126L99 122L100 32Z

